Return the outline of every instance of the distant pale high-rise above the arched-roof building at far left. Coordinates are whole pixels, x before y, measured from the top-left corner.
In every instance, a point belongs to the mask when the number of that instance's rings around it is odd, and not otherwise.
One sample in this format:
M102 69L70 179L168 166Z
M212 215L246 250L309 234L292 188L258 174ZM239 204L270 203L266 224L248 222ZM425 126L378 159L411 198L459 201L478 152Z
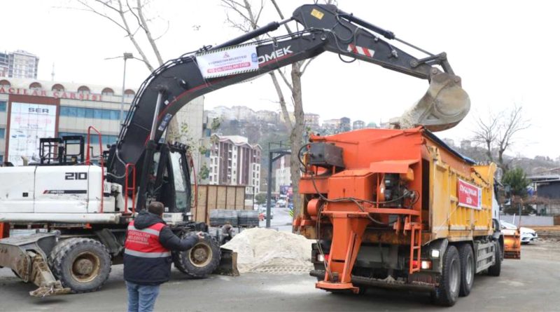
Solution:
M39 58L24 50L0 53L0 76L8 78L37 78Z

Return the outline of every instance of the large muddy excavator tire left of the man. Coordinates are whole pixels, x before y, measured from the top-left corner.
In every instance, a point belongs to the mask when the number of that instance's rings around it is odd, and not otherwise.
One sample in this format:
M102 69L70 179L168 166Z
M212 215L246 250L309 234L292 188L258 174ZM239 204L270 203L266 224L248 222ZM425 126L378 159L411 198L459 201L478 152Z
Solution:
M111 273L111 256L98 240L68 238L59 242L48 257L52 273L73 293L99 290Z

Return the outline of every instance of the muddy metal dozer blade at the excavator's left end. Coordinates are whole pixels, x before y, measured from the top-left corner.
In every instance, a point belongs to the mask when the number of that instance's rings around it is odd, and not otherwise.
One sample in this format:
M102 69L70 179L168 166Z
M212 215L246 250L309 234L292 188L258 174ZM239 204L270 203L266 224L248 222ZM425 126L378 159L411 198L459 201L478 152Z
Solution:
M47 263L47 254L55 246L55 234L41 233L0 239L0 266L12 269L24 282L37 285L29 292L34 297L67 294L70 288L62 287L52 275Z

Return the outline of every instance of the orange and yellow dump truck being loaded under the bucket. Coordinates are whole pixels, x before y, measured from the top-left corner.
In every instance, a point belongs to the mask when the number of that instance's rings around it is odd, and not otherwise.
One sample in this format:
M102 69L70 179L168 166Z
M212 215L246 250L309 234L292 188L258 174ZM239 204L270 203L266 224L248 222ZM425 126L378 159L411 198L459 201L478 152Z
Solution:
M451 306L476 273L500 275L496 165L475 165L424 128L312 136L295 230L316 239L317 288L426 291Z

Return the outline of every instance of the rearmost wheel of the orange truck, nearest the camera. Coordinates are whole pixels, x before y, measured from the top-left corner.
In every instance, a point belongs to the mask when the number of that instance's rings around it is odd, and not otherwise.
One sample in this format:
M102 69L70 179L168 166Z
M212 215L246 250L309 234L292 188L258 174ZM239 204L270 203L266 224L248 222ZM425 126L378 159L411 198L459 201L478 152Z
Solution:
M432 294L435 304L453 306L461 288L461 259L455 246L447 247L443 256L443 268L440 285Z

